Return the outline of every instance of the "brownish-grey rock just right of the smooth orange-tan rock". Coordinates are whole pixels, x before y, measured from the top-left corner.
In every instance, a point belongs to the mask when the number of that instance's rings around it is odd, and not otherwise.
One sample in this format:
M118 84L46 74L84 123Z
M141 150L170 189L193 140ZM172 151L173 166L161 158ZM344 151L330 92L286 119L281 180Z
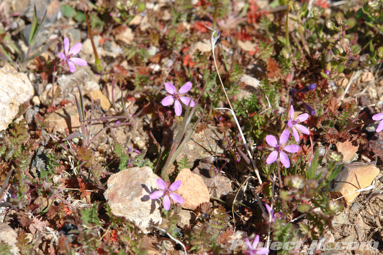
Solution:
M200 164L193 170L193 173L202 177L208 187L209 195L211 197L222 198L233 191L231 181L222 173L218 173L214 177L210 177L210 166L210 163L201 160Z

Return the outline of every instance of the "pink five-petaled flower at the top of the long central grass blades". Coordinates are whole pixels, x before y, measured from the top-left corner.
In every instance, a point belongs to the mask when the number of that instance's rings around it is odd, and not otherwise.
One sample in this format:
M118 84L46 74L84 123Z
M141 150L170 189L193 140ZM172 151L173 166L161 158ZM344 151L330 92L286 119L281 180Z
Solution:
M169 106L169 105L172 105L173 102L175 101L174 103L175 115L180 116L182 113L181 102L184 103L185 105L189 105L190 100L192 100L188 97L182 97L182 95L186 94L186 92L192 89L192 86L193 86L192 82L188 81L177 92L177 89L173 86L173 84L166 82L165 89L168 93L165 94L167 97L162 100L161 104L163 106ZM195 105L196 104L192 100L192 103L190 103L190 107L194 107Z

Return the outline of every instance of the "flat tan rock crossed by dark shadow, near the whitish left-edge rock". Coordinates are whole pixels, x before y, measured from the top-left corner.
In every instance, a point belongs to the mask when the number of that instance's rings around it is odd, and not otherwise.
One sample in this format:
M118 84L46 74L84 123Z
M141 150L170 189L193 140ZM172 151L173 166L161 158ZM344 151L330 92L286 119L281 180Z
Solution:
M76 106L68 106L49 114L44 122L48 124L50 130L56 128L57 131L63 132L65 128L68 128L72 133L80 127L79 112Z

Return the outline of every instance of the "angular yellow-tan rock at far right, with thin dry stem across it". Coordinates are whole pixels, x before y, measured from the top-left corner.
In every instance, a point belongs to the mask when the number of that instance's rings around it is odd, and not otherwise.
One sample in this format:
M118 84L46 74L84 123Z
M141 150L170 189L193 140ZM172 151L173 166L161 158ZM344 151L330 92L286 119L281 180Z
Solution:
M374 164L345 163L330 185L330 195L333 198L346 195L343 199L345 205L349 206L360 193L354 192L359 189L359 185L360 189L368 187L379 172L379 168Z

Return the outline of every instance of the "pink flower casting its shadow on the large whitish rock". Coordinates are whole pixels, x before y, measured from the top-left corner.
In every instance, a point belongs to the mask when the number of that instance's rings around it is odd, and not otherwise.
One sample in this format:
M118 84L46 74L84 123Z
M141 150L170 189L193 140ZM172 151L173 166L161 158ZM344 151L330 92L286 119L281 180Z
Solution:
M169 197L173 199L173 201L175 201L176 203L183 204L185 202L180 195L172 193L173 191L178 190L179 186L181 186L181 181L176 181L172 185L170 185L170 181L167 181L165 183L164 180L162 180L161 178L158 178L157 185L158 185L158 188L160 188L160 191L153 192L152 194L150 194L149 197L155 200L164 196L163 203L164 203L164 209L166 211L169 211L170 209Z

